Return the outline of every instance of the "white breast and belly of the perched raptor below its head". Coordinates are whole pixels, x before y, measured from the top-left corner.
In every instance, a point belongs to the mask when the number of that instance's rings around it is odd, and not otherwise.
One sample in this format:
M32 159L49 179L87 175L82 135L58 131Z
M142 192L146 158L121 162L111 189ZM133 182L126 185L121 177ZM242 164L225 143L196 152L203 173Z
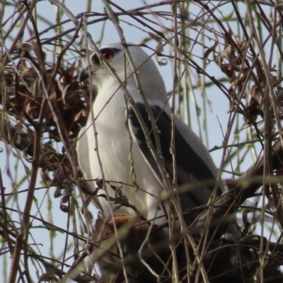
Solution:
M105 91L101 93L105 93ZM128 198L129 204L134 205L146 219L152 219L156 216L157 207L160 207L156 197L163 187L141 155L139 146L134 142L134 139L132 146L130 145L131 139L126 127L126 103L122 91L117 91L106 105L108 98L100 96L100 94L93 105L93 113L94 117L98 116L95 122L98 132L98 151L103 164L105 180L111 181L111 185L116 187L122 185L122 194ZM103 110L101 109L102 105L105 105ZM89 125L91 125L91 115L88 117L86 127ZM97 152L95 151L93 127L89 127L85 135L78 141L77 146L79 166L86 179L102 178ZM85 153L86 151L88 154ZM134 192L134 187L129 185L134 178L130 154L132 154L132 162L134 163L135 182L139 187L137 192ZM90 187L94 189L96 184L93 182ZM110 185L108 185L107 190L110 197L115 197L115 192ZM99 200L103 213L108 215L110 212L108 201L103 197L100 197ZM158 216L163 215L163 213L162 209L158 209ZM131 208L122 207L115 211L115 215L121 214L135 215L135 212ZM159 219L156 224L160 224L162 221L164 219Z

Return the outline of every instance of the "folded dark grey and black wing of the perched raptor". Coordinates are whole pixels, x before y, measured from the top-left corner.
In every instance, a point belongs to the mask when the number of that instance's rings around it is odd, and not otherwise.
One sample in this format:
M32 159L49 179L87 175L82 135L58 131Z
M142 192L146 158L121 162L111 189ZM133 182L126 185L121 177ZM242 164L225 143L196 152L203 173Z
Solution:
M143 103L137 103L137 107L144 118L146 127L151 133L151 140L154 146L156 146L154 133L151 131L151 121L146 108ZM158 127L158 137L166 171L173 178L173 156L170 150L172 136L171 117L157 105L151 105L151 110ZM161 173L146 144L144 132L132 108L129 108L129 127L146 162L154 171L156 178L161 180ZM180 196L182 209L192 209L202 204L207 204L216 184L217 168L200 138L178 117L175 118L175 158L178 186L182 186L184 190ZM200 188L201 182L203 182L203 187ZM185 186L192 185L193 183L197 184L197 189L193 190L190 186L190 191L186 191ZM223 188L219 187L217 195L221 195L221 190ZM192 221L193 219L187 220Z

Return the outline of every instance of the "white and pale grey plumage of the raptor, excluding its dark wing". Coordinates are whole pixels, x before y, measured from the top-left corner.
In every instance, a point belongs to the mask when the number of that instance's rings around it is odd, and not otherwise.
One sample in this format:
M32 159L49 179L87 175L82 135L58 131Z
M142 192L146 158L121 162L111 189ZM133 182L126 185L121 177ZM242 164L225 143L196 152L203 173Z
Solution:
M137 91L137 84L132 75L132 68L125 59L124 47L120 43L106 47L122 50L115 54L110 60L110 64L122 81L125 81L125 78L127 78L127 90L132 98L134 98L134 101L136 103L143 103L141 94ZM129 47L129 52L135 67L139 71L139 81L149 105L158 105L164 108L167 101L166 88L153 60L140 47ZM158 195L163 190L163 186L144 159L134 139L132 139L132 146L130 145L131 139L129 137L129 130L126 127L127 107L124 92L105 66L92 66L92 68L93 76L91 80L98 86L98 96L93 103L93 115L96 119L98 151L103 163L105 180L123 184L130 183L133 175L130 173L132 165L129 155L132 152L134 172L136 175L135 181L139 186L139 190L134 192L133 187L122 185L122 194L127 196L129 203L134 205L146 219L152 219L156 215L156 212L157 215L163 215L163 210L158 209L158 207L161 208L158 202ZM168 105L166 105L165 110L168 115L171 115ZM201 156L204 162L211 168L214 175L216 175L216 166L200 139L182 120L176 118L175 122L176 127L183 134L187 143L197 152L197 155ZM102 176L95 151L95 138L91 124L90 115L86 127L81 129L80 139L77 144L79 166L88 180L101 178ZM120 183L112 183L112 185L119 187ZM89 185L94 190L95 183L90 182ZM114 190L109 185L108 193L111 197L115 196ZM107 215L110 209L108 201L100 197L100 204L103 208L103 213ZM118 214L135 215L135 212L133 209L122 207L115 211L115 215ZM156 224L160 224L163 220L157 220Z

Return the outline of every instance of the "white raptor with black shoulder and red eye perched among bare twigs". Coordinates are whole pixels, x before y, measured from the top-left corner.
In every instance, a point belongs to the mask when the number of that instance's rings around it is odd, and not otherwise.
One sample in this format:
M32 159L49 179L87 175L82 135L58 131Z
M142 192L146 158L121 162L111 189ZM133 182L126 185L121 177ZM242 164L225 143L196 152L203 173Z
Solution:
M113 186L119 187L122 195L127 197L130 205L116 209L113 212L115 216L138 214L144 219L156 219L155 224L158 225L166 221L166 206L160 200L166 181L173 183L175 180L174 191L177 195L178 188L182 188L178 197L185 212L207 204L214 190L218 170L192 129L179 117L174 117L172 123L166 87L153 59L137 45L130 44L127 48L134 69L121 43L100 49L123 86L96 53L90 57L91 70L83 69L79 75L81 82L88 79L98 88L92 106L94 121L89 115L77 142L79 166L86 180L93 180L88 181L91 190L96 190L95 180L102 178L104 173L107 181L104 189L108 190L111 200L115 200L116 194ZM141 89L137 85L137 78ZM130 99L125 95L125 89ZM154 121L150 119L149 108ZM93 122L97 134L92 127ZM156 151L160 148L158 158L166 173L161 172L149 139ZM102 166L98 162L98 154ZM193 184L196 189L192 187ZM190 186L190 190L186 186ZM221 194L222 190L223 186L220 185L216 194ZM97 202L101 212L105 216L110 215L109 200L98 197ZM196 214L188 213L184 219L190 224L195 217Z

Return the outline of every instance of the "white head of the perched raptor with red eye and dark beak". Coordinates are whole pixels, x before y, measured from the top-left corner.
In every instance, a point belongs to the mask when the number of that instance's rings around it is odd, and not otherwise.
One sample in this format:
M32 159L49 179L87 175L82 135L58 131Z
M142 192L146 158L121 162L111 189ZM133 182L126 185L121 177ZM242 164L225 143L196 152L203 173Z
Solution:
M129 43L129 54L134 62L136 74L139 76L139 81L143 88L157 89L160 93L166 93L166 89L163 83L161 74L159 73L156 64L149 57L144 50L139 46ZM125 47L121 43L112 43L100 48L100 52L105 59L109 62L111 67L115 70L117 76L121 81L127 81L127 86L130 84L136 84L134 80L134 71L129 64L127 56L125 54ZM98 54L93 53L90 57L91 64L91 81L96 84L98 88L102 88L103 84L109 84L110 81L115 81L108 67L103 62L100 62ZM79 80L81 82L89 79L90 72L86 66L81 70ZM158 93L155 93L157 95ZM150 96L150 95L149 95Z

